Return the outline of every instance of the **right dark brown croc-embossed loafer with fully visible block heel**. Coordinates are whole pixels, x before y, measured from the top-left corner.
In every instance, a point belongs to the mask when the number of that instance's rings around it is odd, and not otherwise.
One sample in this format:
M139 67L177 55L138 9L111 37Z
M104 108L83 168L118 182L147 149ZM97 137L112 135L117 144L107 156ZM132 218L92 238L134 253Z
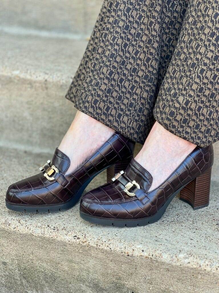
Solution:
M132 159L125 173L88 192L81 200L83 219L110 226L143 226L154 223L180 192L194 209L208 206L213 147L196 147L158 188L148 192L151 174Z

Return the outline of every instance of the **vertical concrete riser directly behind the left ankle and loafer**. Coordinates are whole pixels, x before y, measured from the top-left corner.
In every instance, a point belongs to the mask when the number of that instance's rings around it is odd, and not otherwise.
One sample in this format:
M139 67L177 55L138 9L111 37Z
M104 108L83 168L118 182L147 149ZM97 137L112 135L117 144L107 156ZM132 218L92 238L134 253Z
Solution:
M34 152L54 152L77 111L64 98L67 87L18 77L3 79L1 76L1 81L0 144Z

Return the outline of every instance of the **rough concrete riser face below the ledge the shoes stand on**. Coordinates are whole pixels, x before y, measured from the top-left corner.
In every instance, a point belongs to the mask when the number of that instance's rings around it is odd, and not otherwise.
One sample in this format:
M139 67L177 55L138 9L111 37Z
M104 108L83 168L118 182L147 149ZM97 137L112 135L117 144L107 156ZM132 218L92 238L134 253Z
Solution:
M86 229L86 228L85 228ZM218 275L0 230L1 293L216 293Z

